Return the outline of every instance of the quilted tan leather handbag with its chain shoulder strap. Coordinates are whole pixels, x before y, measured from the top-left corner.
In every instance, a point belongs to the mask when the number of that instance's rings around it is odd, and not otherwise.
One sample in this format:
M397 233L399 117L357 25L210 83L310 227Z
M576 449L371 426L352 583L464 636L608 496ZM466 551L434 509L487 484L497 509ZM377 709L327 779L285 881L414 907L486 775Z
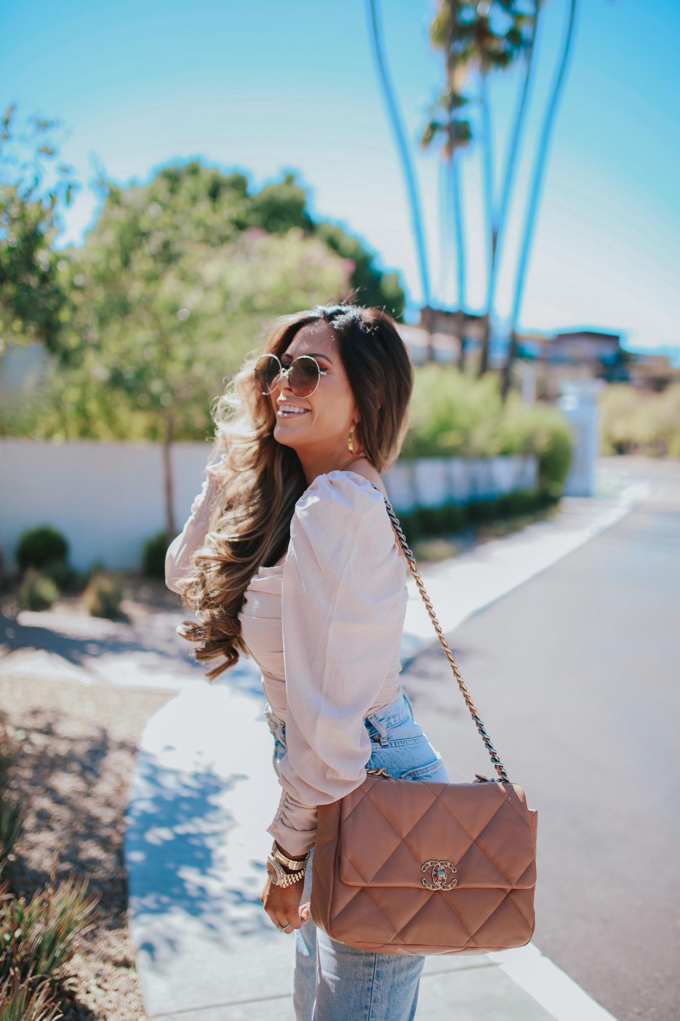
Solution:
M332 939L380 954L523 946L534 931L537 813L507 779L385 503L498 779L431 783L377 770L340 801L320 806L311 917Z

